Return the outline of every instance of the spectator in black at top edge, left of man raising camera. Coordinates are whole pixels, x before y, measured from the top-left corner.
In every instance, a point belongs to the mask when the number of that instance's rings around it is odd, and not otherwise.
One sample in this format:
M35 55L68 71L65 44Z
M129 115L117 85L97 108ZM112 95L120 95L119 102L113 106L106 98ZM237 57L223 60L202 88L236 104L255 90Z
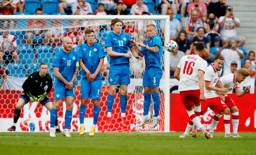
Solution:
M221 16L225 16L227 6L226 0L219 0L219 2L210 5L210 12L213 12L220 18Z

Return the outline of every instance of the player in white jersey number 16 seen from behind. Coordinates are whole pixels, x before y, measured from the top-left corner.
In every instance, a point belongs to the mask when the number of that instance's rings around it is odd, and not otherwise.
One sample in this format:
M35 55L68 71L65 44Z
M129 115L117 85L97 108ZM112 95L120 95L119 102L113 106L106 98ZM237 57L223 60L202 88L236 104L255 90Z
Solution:
M197 43L195 48L196 55L184 55L180 59L174 77L180 81L178 91L190 120L198 126L208 139L210 133L204 129L200 119L195 114L195 112L201 112L200 100L205 100L204 72L207 68L207 62L200 57L204 54L204 48L203 43ZM193 106L195 106L195 111Z

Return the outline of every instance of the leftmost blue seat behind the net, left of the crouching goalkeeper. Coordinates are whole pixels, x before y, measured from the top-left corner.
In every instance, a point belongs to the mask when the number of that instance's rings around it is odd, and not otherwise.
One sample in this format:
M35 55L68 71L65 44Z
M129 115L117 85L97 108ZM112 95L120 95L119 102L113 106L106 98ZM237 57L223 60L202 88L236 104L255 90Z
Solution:
M7 69L9 76L12 77L24 77L26 73L24 64L21 63L9 63Z

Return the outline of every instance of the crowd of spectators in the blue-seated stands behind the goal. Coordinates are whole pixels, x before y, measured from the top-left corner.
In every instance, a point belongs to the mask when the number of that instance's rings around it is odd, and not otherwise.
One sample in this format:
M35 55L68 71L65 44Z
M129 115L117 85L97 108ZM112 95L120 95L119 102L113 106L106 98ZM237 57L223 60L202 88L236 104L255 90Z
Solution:
M32 1L38 2L39 6L39 8L33 10L34 12L31 12L30 9L30 2ZM50 8L45 7L47 3L51 4ZM224 57L223 75L244 67L250 70L251 77L255 77L255 53L250 51L247 55L243 48L246 38L238 36L236 31L236 27L240 26L240 20L234 16L233 8L226 3L226 0L147 0L144 2L143 0L0 0L0 9L1 15L49 15L58 13L61 15L169 15L171 25L170 40L175 40L178 44L177 50L170 53L171 76L176 70L181 57L193 54L195 44L201 42L205 45L205 53L202 57L207 60L208 64L214 61L215 56ZM159 14L156 12L159 12ZM28 21L28 27L35 25L45 26L46 24L46 21L41 20ZM61 24L61 20L55 20L53 26L55 24ZM147 24L156 24L156 22L149 21ZM161 31L158 33L165 35L164 25L162 24ZM76 21L72 23L72 26L76 27L77 25ZM135 28L132 24L125 25L124 32L133 37L135 33L143 29L143 25L145 23L138 24L138 28ZM0 26L12 27L14 23L13 21L1 21ZM33 30L28 31L21 39L18 38L16 32L1 32L0 65L3 69L7 69L8 75L13 76L11 75L12 72L8 71L8 63L16 63L16 66L18 66L16 69L19 69L20 64L28 67L30 63L41 63L45 60L40 58L39 55L37 59L36 56L32 56L30 61L30 56L21 55L23 48L28 53L28 49L39 52L39 48L44 47L48 49L48 52L51 51L54 54L60 50L62 38L69 36L73 41L73 49L75 49L77 45L86 42L84 31L88 28L94 29L98 39L97 42L101 42L104 45L103 40L99 39L103 35L100 32L102 27L97 26L70 29L54 29L52 27L50 30ZM19 48L20 46L22 46L21 49ZM47 58L47 56L45 57ZM109 57L105 58L105 63L101 70L104 77L103 80L108 79L108 59ZM47 63L52 63L52 59L50 58ZM143 64L141 65L143 66ZM143 67L139 71L134 70L131 65L131 78L142 77L142 70ZM50 70L51 72L52 70ZM24 74L23 76L26 75ZM3 78L1 79L3 80Z

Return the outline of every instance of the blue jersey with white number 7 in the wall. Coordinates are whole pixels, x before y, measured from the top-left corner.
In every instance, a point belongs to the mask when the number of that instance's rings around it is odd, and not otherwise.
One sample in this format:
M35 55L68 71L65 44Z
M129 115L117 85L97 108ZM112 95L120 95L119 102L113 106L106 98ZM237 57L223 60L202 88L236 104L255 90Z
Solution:
M93 74L99 63L100 59L104 58L104 48L99 43L94 43L92 46L88 46L88 44L79 45L77 48L77 52L80 58L83 59L83 63L85 67ZM82 78L86 78L86 72L83 70ZM100 80L101 74L100 72L96 76L95 80Z

